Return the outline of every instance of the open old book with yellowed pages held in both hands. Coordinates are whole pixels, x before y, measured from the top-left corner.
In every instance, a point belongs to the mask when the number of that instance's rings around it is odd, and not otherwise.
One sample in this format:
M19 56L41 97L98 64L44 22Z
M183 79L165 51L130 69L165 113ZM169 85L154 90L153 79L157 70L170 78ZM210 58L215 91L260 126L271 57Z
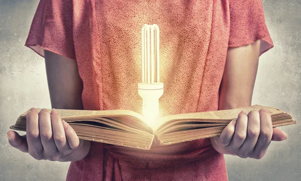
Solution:
M81 139L148 150L153 141L160 145L168 145L218 136L242 110L249 113L259 111L261 108L271 113L273 127L296 124L290 114L259 105L232 110L170 115L160 118L161 124L156 130L145 123L142 115L128 110L57 111L62 120L68 122ZM48 111L50 112L51 109ZM10 128L26 131L26 114L27 112L23 113L16 124Z

